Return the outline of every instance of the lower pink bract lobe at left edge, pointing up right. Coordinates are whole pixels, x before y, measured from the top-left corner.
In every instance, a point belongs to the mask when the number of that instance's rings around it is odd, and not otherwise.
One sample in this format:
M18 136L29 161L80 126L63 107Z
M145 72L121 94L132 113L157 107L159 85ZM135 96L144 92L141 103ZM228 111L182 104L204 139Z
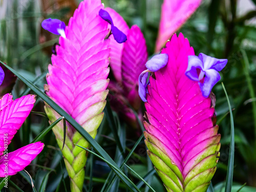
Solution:
M2 155L0 157L0 177L15 175L20 170L23 170L42 151L43 148L44 143L39 141L8 153L8 156Z

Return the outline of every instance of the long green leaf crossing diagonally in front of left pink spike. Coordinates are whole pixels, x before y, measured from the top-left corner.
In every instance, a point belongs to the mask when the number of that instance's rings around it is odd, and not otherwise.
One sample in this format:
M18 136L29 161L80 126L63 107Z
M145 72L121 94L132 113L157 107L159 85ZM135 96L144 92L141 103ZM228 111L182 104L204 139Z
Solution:
M117 164L113 161L113 159L109 156L108 153L106 153L103 148L91 137L89 133L87 133L86 130L83 129L83 127L77 123L66 111L64 111L62 108L60 108L59 105L57 105L50 97L48 97L44 92L42 92L40 89L38 89L33 83L31 83L29 80L24 78L22 75L20 75L18 72L13 70L11 67L7 66L5 63L0 61L3 65L6 66L12 73L14 73L20 80L22 80L25 84L27 84L28 87L32 91L35 92L36 95L38 95L42 100L44 100L46 103L48 103L52 109L54 109L60 116L65 117L65 119L83 136L84 139L88 141L88 143L94 148L94 150L100 154L105 160L111 162L113 165L115 165L116 168L113 168L114 172L118 175L118 177L131 189L132 191L136 191L136 189L133 187L133 182L131 180L127 180L125 177L123 177L122 174L120 174L120 169L117 168ZM119 169L119 170L117 170Z

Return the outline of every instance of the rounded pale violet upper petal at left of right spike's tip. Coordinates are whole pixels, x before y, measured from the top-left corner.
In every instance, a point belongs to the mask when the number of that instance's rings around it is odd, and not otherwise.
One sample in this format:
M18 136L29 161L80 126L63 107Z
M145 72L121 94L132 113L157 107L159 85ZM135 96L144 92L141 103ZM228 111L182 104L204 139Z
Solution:
M159 69L166 66L167 62L168 62L168 55L166 53L158 54L153 56L150 60L146 62L146 68L152 72L156 72Z

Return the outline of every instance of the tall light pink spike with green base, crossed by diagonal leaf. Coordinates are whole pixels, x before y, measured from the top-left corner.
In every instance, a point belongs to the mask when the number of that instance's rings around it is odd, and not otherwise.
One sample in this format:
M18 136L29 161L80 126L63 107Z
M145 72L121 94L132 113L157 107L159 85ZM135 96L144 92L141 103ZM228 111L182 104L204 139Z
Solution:
M101 9L104 7L100 0L85 0L80 3L67 27L60 21L54 21L49 27L46 25L48 21L42 23L45 29L61 35L56 55L52 55L52 65L49 65L46 93L93 138L102 121L105 98L109 92L106 88L109 84L110 27L99 16ZM45 110L50 123L59 117L47 104ZM63 124L57 124L53 132L62 148ZM82 191L87 153L74 143L90 147L67 123L62 154L71 180L71 191Z

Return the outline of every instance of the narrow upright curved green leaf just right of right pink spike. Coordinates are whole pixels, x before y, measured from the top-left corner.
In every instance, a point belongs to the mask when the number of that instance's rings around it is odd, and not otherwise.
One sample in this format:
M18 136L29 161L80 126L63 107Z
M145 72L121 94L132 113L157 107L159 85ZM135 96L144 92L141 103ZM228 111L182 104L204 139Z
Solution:
M224 87L224 84L222 82L222 87L225 92L227 102L228 102L228 108L230 113L230 146L229 146L229 157L228 157L228 165L227 165L227 179L226 179L226 186L225 186L225 192L231 192L232 188L232 182L233 182L233 170L234 170L234 120L233 120L233 114L231 105L229 102L229 98L226 92L226 89Z

